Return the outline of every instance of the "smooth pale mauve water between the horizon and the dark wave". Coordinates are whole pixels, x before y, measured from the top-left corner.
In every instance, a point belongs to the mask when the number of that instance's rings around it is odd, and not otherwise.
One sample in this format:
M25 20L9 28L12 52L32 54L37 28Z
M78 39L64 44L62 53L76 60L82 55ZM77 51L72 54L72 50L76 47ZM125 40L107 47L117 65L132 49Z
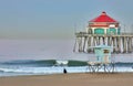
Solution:
M0 40L0 62L13 60L94 61L94 54L73 52L74 40ZM114 54L115 62L133 62L132 54Z

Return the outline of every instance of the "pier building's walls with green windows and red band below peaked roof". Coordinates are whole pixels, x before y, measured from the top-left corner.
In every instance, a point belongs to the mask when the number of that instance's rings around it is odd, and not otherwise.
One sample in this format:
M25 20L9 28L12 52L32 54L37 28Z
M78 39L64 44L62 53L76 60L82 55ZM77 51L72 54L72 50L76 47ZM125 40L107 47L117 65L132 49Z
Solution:
M120 34L120 28L119 23L91 22L88 32L92 34Z

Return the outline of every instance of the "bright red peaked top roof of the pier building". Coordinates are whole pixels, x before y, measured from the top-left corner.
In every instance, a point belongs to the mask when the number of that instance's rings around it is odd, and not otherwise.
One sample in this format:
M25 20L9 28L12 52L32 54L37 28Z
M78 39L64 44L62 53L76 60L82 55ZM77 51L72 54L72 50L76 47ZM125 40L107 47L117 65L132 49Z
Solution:
M102 12L101 15L91 20L90 22L117 22L117 21L109 17L105 12Z

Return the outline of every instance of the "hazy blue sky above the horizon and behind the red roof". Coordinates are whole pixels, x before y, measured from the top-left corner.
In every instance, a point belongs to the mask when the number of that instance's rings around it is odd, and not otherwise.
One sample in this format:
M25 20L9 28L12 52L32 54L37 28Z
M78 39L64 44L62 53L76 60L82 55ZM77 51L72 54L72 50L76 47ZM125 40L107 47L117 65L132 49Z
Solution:
M0 39L74 37L75 31L85 31L88 21L102 11L130 32L132 3L133 0L0 0Z

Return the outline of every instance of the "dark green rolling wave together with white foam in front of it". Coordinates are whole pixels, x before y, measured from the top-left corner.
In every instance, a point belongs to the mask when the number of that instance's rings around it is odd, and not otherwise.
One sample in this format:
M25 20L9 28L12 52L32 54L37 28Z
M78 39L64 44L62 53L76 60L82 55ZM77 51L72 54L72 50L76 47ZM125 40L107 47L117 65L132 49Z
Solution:
M63 74L64 68L68 73L88 73L90 69L84 63L69 61L68 65L57 66L55 60L1 62L0 76ZM133 63L115 63L114 68L115 72L133 72Z

